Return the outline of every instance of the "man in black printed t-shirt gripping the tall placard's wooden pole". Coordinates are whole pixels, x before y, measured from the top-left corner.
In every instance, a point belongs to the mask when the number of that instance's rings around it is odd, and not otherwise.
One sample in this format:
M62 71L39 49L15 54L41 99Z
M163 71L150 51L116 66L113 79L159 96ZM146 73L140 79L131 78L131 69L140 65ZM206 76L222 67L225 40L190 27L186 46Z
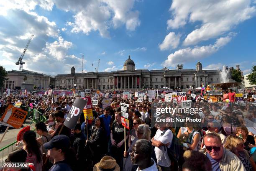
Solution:
M125 150L124 141L128 139L128 131L124 139L124 127L121 123L121 112L115 114L115 121L112 124L110 140L111 140L111 153L113 158L123 170L123 151Z

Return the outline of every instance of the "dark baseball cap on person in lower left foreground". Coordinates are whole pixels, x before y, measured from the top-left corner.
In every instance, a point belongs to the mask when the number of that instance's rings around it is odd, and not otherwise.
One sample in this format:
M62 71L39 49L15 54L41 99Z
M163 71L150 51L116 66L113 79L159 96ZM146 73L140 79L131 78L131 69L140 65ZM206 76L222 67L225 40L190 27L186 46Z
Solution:
M51 149L51 148L69 148L70 147L70 140L67 135L56 135L52 138L48 143L44 143L44 148Z

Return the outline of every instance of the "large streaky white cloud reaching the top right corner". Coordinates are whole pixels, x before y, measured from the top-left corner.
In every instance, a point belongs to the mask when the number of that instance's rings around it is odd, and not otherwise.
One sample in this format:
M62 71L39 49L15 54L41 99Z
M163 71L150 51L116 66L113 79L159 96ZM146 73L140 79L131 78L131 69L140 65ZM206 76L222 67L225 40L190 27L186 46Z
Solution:
M234 26L256 14L251 0L173 0L170 7L172 18L167 28L179 28L188 22L202 22L200 28L187 35L183 44L195 45L200 41L216 38L230 31Z

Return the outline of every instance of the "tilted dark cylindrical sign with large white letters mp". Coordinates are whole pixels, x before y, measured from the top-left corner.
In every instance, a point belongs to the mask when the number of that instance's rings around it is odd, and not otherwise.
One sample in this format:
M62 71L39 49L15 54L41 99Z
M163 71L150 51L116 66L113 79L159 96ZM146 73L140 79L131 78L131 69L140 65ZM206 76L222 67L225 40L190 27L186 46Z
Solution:
M74 129L74 127L77 125L77 120L79 119L86 104L87 100L84 100L80 97L76 98L64 122L66 127Z

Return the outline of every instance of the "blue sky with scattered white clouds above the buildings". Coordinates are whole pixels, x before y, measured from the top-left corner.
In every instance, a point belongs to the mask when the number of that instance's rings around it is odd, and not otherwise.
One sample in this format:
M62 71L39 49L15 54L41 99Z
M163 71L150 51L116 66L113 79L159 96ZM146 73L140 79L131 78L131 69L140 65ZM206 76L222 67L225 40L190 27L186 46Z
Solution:
M255 0L9 0L0 2L0 60L6 70L34 34L23 69L56 75L256 64ZM93 69L95 70L95 69Z

